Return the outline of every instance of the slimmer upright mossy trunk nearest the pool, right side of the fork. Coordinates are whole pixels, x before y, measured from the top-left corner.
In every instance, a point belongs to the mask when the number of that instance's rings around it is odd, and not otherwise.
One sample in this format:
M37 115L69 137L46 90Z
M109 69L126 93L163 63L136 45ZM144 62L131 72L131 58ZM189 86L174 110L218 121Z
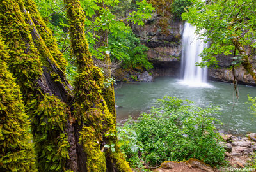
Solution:
M101 95L104 76L88 52L83 9L78 0L64 2L78 72L74 82L74 117L81 129L79 141L87 157L84 168L86 171L131 171L118 147L115 118ZM105 145L112 145L115 151Z

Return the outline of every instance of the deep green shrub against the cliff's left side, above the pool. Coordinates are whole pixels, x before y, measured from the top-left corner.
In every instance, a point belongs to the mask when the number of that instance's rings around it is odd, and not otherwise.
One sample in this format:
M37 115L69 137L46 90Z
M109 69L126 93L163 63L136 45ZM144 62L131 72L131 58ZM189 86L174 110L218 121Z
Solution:
M132 32L122 36L109 34L109 51L112 61L122 61L124 68L141 66L145 69L152 69L153 66L148 62L148 48L140 43Z

